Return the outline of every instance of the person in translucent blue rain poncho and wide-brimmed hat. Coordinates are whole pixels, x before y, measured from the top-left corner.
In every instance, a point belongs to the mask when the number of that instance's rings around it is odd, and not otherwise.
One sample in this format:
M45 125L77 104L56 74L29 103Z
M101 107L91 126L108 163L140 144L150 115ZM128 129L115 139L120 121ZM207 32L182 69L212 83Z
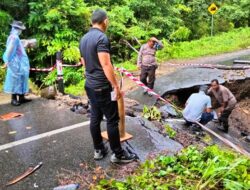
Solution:
M7 40L6 50L3 54L4 68L7 67L7 75L4 83L4 92L12 94L11 104L19 106L29 102L24 95L28 93L28 80L30 64L29 59L19 38L25 26L20 21L14 21Z

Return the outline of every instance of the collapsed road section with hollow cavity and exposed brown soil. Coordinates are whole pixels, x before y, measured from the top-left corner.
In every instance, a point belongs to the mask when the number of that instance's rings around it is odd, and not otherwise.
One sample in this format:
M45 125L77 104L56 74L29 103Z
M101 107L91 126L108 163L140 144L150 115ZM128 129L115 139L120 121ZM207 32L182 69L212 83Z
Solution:
M229 133L221 133L221 136L235 144L239 144L241 147L250 152L248 142L250 135L250 121L248 117L248 115L250 114L249 70L232 71L211 68L182 68L170 75L158 78L156 80L155 92L160 94L163 98L171 100L178 107L184 108L185 102L188 97L192 93L198 92L198 87L200 85L208 85L213 79L218 79L221 84L228 87L236 96L236 99L238 101L238 104L229 119ZM139 88L131 92L128 97L137 100L143 105L157 105L159 107L163 105L161 101L157 100L157 98L148 96L144 96L143 98L141 98L143 96L142 94L143 91ZM243 115L242 111L244 112ZM176 122L174 123L176 125ZM177 125L182 124L179 123ZM208 126L216 131L216 125L218 125L218 123L210 122ZM216 132L220 134L219 131Z

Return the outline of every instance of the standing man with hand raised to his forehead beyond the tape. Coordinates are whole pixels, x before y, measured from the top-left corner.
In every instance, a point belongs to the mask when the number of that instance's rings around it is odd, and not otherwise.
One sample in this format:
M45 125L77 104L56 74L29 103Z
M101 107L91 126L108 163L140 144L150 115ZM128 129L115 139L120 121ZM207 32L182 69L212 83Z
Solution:
M155 83L155 71L158 67L156 62L156 51L163 48L163 44L161 41L152 37L148 40L146 44L143 44L140 48L138 59L137 59L137 67L141 69L140 80L150 89L154 88ZM147 91L144 90L144 94ZM152 96L151 93L148 94Z

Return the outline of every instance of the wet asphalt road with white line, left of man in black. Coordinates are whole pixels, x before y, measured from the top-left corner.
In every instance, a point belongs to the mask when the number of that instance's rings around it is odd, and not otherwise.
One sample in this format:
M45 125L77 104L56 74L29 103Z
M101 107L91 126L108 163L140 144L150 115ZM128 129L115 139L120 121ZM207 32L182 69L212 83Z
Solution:
M86 117L43 99L20 107L0 105L0 114L13 111L24 116L0 121L0 189L29 190L35 189L34 184L37 189L52 189L61 168L77 169L84 160L93 163L88 122L82 123L87 121ZM77 123L82 124L74 128L72 125ZM53 135L53 131L57 133ZM34 175L12 187L3 187L41 161L44 165Z

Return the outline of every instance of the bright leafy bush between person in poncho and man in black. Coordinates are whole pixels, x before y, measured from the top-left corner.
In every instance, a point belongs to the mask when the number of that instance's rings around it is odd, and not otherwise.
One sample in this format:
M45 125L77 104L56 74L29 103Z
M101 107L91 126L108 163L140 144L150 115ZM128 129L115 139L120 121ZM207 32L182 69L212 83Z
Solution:
M34 61L55 60L57 51L63 51L66 62L80 59L79 38L89 26L90 12L82 0L30 1L28 19L30 32L39 42L39 53Z

